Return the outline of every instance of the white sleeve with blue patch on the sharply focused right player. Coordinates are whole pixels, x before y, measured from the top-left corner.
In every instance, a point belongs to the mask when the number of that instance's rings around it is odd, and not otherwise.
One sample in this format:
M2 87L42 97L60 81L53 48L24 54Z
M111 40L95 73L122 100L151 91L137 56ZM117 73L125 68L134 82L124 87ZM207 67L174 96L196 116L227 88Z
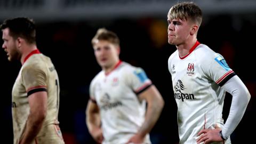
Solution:
M229 68L226 60L219 53L215 53L214 57L211 57L210 62L204 63L203 67L207 76L209 76L219 86L222 86L231 77L236 75L234 71Z

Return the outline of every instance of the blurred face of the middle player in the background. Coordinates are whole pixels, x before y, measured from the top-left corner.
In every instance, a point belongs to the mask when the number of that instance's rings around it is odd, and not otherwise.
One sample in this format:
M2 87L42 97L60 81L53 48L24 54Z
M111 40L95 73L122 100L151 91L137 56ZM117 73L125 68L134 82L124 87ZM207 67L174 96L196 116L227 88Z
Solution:
M111 69L119 61L119 47L100 40L93 46L94 55L102 69Z

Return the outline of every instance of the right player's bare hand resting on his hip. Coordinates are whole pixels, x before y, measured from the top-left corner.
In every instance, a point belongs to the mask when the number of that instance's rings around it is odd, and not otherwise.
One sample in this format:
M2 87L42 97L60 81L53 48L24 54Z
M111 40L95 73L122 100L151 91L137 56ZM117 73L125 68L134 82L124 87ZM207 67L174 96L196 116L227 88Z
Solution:
M200 137L196 140L197 143L204 142L204 144L211 143L214 141L223 141L219 132L221 129L204 129L201 130L197 136Z

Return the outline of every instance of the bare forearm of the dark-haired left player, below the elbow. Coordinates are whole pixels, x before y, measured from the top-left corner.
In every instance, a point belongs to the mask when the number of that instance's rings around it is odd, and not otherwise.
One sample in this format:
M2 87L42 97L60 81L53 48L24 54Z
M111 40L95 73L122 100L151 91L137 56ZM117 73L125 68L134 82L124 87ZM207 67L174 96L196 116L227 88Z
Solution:
M21 138L20 144L31 143L33 140L35 140L36 135L42 128L44 119L44 114L30 114L28 116L25 132L23 134L23 137Z

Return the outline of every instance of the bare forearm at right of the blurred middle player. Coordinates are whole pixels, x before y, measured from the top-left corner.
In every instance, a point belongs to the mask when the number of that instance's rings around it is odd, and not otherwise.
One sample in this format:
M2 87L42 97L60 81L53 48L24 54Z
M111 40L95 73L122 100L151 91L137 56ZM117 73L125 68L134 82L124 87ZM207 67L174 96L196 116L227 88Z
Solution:
M140 130L138 132L140 135L142 135L142 137L145 137L145 135L149 133L151 129L154 127L154 125L157 122L157 119L161 114L163 106L164 106L164 101L162 97L156 98L153 101L148 102L145 121L140 127Z

